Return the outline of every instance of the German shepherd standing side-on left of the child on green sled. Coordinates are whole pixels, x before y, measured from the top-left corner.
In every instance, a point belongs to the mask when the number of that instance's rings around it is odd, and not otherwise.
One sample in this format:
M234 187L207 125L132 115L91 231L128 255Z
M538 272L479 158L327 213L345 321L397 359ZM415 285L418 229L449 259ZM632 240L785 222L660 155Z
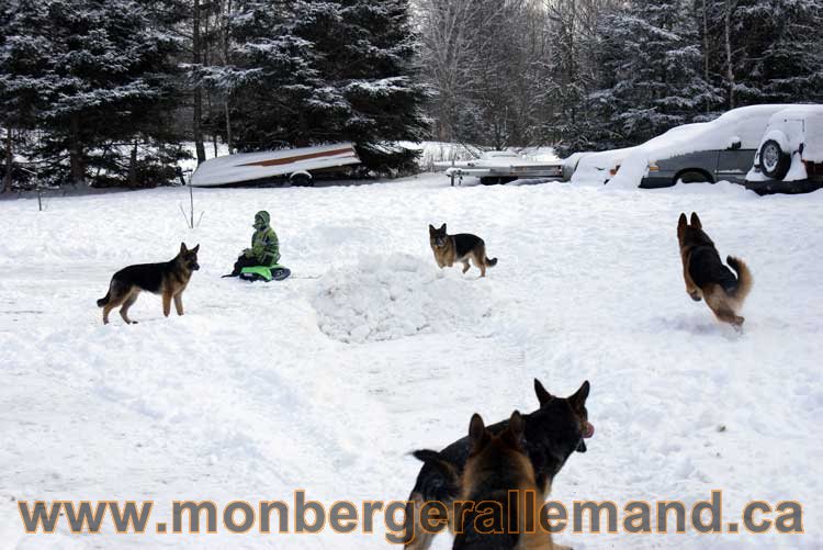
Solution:
M109 292L98 300L98 307L103 308L103 324L109 324L109 313L122 305L120 316L127 325L137 323L128 318L128 308L137 301L140 291L162 295L162 314L169 316L171 299L178 315L183 314L183 291L189 284L192 272L200 269L198 265L200 245L191 250L185 243L180 243L180 252L169 261L160 263L139 263L123 268L112 277Z

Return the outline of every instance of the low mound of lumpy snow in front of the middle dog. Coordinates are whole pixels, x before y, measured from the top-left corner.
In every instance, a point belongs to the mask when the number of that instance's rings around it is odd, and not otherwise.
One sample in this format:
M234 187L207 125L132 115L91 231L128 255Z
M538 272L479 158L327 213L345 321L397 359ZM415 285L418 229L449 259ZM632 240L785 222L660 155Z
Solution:
M323 277L313 305L320 329L345 343L441 333L488 315L487 300L473 279L446 277L432 259L363 256L356 266Z

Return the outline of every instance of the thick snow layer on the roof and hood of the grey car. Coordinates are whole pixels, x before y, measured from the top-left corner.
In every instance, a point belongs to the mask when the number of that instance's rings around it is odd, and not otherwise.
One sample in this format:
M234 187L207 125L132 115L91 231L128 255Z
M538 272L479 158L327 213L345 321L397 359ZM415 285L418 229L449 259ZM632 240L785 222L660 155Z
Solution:
M701 150L726 149L740 139L744 149L756 149L770 117L796 105L749 105L733 109L711 122L684 124L634 147L620 164L609 186L635 188L650 162Z

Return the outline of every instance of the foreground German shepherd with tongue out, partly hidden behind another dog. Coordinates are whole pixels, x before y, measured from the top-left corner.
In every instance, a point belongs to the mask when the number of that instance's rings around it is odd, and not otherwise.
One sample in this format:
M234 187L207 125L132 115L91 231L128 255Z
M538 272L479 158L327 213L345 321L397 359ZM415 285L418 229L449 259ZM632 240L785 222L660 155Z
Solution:
M540 402L540 408L523 415L525 450L534 469L539 494L549 494L552 480L574 452L586 452L584 439L591 437L595 428L588 422L586 399L589 393L588 381L584 382L570 397L551 395L534 379L534 393ZM486 429L489 434L500 434L508 427L509 420L504 420ZM406 548L417 550L427 549L436 536L426 532L420 524L420 508L424 503L438 501L451 509L454 500L463 492L461 479L466 460L472 450L470 437L459 439L440 452L433 450L418 450L413 454L424 462L417 474L415 486L408 497L406 506L406 524L403 540ZM542 504L542 503L540 503ZM454 529L454 518L444 518L450 528Z

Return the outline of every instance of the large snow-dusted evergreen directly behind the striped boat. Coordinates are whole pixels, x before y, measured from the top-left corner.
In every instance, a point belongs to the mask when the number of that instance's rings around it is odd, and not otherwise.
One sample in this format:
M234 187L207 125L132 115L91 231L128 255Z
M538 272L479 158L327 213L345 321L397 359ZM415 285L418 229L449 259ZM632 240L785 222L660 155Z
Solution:
M373 169L408 167L428 121L416 82L407 0L274 0L240 4L233 63L237 147L356 142Z

